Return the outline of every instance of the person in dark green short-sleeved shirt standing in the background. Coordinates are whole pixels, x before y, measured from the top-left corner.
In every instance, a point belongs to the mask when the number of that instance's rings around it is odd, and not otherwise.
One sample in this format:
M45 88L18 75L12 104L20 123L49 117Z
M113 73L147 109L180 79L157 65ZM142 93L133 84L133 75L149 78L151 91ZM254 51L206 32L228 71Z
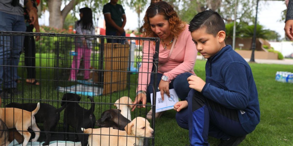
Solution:
M107 36L125 36L126 16L123 7L117 2L118 0L110 0L110 3L105 4L103 8ZM107 39L107 43L125 44L125 40Z

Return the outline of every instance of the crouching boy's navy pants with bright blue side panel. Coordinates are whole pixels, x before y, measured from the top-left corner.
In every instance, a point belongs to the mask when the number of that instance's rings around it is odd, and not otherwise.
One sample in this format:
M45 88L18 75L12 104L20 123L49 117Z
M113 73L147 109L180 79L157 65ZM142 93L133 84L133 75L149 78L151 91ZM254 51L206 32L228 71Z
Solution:
M176 121L189 130L190 145L208 146L208 136L227 140L248 134L240 124L239 110L226 108L194 89L190 90L187 101L188 108L176 113Z

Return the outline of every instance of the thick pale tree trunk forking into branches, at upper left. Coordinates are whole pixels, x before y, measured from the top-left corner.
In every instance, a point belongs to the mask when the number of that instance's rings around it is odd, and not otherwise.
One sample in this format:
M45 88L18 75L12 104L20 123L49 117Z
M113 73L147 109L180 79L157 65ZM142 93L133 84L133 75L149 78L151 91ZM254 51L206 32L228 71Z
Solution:
M62 29L64 20L70 10L76 5L75 0L71 0L61 11L61 0L48 0L49 8L49 26L57 29Z

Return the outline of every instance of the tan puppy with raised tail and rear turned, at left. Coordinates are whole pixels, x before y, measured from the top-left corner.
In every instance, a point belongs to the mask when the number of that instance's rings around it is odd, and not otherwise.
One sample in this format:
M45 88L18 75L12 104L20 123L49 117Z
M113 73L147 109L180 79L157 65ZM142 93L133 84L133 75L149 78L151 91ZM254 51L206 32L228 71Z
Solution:
M4 121L8 129L16 128L18 132L23 135L23 146L28 144L31 134L28 132L28 128L31 128L33 131L40 131L36 122L35 114L40 109L40 102L37 105L37 108L33 112L28 112L26 110L8 107L0 108L0 119ZM40 132L35 132L35 138L32 139L32 142L35 142L39 139Z

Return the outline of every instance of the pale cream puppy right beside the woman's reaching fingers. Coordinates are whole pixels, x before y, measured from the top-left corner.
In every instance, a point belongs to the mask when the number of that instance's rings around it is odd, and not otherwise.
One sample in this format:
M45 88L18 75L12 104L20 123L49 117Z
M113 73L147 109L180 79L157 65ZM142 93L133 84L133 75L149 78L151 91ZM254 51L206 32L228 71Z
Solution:
M120 99L116 100L114 106L116 106L117 109L121 110L121 114L125 118L127 118L129 121L132 121L131 114L130 114L130 109L132 109L132 105L124 105L124 104L133 104L133 102L129 97L123 96Z

